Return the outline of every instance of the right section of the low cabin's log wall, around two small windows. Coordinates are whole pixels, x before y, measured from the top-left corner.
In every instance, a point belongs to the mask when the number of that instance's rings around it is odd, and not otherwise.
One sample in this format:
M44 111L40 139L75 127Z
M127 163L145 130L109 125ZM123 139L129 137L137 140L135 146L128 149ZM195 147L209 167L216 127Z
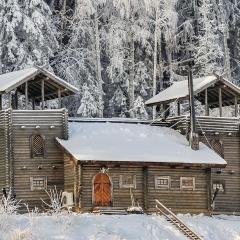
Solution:
M206 212L209 206L208 174L206 169L184 169L169 167L148 168L148 205L155 208L158 199L176 212ZM170 190L155 189L155 176L170 176ZM195 177L195 190L180 190L180 177Z

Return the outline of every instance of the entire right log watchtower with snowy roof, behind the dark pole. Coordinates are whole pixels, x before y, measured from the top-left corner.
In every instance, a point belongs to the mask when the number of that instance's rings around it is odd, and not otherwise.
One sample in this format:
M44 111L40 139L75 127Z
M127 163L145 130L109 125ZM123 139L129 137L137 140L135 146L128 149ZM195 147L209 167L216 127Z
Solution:
M196 117L196 133L199 140L213 149L227 162L225 169L211 170L212 193L215 196L215 212L240 212L240 136L239 103L240 88L223 77L213 75L193 80L194 97L204 105L204 116ZM188 81L174 82L146 102L148 106L166 109L171 103L177 104L178 116L153 121L173 127L189 139L191 121L189 115L181 114L181 104L189 99ZM223 107L229 106L233 116L223 117ZM211 116L210 109L218 109L218 116ZM215 110L215 113L217 111Z

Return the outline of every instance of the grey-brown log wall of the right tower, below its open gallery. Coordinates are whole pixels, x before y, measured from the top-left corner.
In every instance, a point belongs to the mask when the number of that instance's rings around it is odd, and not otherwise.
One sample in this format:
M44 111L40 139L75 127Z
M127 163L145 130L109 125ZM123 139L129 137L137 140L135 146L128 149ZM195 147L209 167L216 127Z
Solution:
M180 119L180 123L176 124ZM222 144L222 152L227 162L225 169L212 169L212 182L222 182L224 192L219 192L215 201L215 212L240 212L240 132L239 118L197 117L200 141L211 148L213 140ZM188 117L168 119L169 125L186 134L189 129Z

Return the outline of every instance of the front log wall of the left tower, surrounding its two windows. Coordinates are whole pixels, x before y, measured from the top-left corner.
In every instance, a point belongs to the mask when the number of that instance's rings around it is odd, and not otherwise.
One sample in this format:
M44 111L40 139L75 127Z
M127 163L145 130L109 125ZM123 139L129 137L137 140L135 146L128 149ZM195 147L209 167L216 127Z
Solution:
M17 199L28 203L30 208L41 206L41 199L47 201L44 190L31 191L31 177L47 177L47 187L63 190L63 154L55 138L67 134L65 110L12 112L12 145L14 189ZM30 137L40 134L45 137L46 157L31 157Z

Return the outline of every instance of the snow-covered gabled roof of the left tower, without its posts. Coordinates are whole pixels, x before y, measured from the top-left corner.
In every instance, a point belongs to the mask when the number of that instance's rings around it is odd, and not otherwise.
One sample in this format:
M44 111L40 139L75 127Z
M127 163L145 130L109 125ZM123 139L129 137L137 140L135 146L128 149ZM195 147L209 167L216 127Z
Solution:
M0 93L10 92L25 82L34 80L39 74L48 77L55 84L67 89L69 91L69 94L70 92L74 94L78 91L76 87L67 83L51 72L45 69L33 67L0 75Z

